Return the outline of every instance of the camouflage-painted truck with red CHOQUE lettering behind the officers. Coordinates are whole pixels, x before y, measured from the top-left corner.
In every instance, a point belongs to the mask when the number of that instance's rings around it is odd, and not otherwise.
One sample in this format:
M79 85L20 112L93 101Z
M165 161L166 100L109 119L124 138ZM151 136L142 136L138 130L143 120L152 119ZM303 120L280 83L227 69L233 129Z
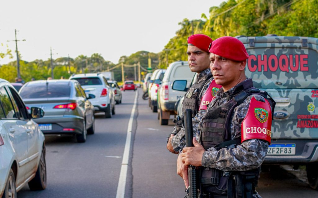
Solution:
M306 165L318 189L318 38L238 36L249 53L245 74L277 102L263 165Z

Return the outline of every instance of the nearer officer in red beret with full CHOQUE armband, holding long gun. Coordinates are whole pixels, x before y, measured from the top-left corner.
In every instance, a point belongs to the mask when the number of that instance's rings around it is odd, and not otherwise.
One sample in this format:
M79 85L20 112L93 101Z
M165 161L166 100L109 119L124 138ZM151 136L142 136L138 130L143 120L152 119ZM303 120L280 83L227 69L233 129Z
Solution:
M249 55L241 41L220 37L209 52L211 72L222 88L199 122L194 147L179 155L178 174L187 187L186 167L201 167L201 198L260 197L255 187L271 142L275 102L246 79Z

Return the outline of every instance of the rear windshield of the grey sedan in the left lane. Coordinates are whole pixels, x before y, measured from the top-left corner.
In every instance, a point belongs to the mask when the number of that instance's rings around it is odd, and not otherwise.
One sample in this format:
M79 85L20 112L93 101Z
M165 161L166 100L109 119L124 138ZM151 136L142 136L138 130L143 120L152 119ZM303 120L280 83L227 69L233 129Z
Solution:
M27 84L21 89L20 96L23 99L28 98L53 98L53 97L69 97L71 93L71 86L69 82L54 83L32 83Z

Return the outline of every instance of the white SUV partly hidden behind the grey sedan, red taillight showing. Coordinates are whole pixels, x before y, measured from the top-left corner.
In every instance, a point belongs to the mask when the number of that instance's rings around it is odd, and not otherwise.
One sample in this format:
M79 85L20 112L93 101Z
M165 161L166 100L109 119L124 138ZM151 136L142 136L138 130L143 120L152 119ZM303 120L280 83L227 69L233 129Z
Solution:
M115 94L103 74L76 74L69 79L77 80L86 95L90 95L95 112L105 112L106 118L115 114Z

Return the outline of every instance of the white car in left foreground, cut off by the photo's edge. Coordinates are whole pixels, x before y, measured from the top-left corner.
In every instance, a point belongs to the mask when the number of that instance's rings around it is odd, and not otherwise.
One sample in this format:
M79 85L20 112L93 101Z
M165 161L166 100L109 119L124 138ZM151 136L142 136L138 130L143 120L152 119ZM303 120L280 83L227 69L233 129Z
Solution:
M40 108L28 113L16 89L0 79L0 197L16 198L29 184L31 190L46 188L45 139L32 118L44 116Z

